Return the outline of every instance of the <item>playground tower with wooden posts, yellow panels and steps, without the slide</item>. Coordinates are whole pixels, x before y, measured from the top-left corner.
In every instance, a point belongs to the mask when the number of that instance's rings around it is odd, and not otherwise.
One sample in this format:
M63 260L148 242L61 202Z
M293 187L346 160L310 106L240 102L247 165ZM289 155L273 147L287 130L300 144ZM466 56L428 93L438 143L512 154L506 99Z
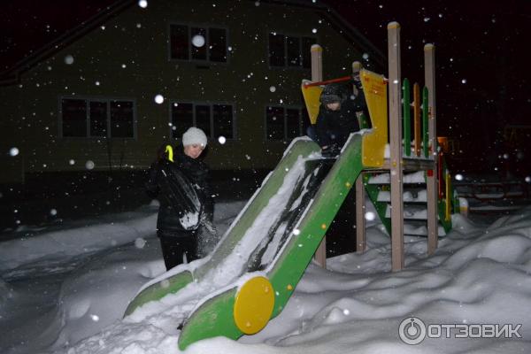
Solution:
M373 127L372 134L363 137L363 170L356 180L357 250L359 252L366 250L365 202L368 196L391 236L393 271L404 267L404 233L427 234L427 251L428 254L433 253L437 247L438 236L444 235L451 228L452 205L458 205L453 200L456 196L451 186L449 170L444 162L443 150L437 149L435 46L426 44L424 47L426 86L420 95L419 84L413 85L413 100L410 104L410 82L408 79L401 80L399 29L396 22L389 24L389 79L361 69L358 62L352 65L353 73L359 72L361 77ZM345 76L322 81L321 52L319 45L312 47L312 81L306 81L302 86L312 124L316 122L319 112L319 95L322 90L319 85L351 80L351 76ZM398 85L400 82L402 82L401 86ZM389 156L386 156L384 150L388 142L388 87ZM358 117L358 119L360 127L367 127L366 117ZM414 128L413 144L412 127ZM415 190L413 193L405 190L404 193L404 189L409 189L406 187L409 184L408 180L411 180L404 173L412 174L420 171L425 173L426 189ZM388 173L390 178L384 178L383 183L379 184L376 181L381 180L378 177L381 173ZM419 184L419 179L416 181ZM419 195L421 197L418 197ZM404 210L404 199L407 201L405 206L413 204L417 207L413 206L412 212ZM418 216L423 213L418 207L420 203L426 205L427 227L404 224L404 219L420 219ZM415 209L420 212L415 212ZM442 229L438 227L437 220L441 222ZM326 266L325 240L316 251L315 258L321 266Z

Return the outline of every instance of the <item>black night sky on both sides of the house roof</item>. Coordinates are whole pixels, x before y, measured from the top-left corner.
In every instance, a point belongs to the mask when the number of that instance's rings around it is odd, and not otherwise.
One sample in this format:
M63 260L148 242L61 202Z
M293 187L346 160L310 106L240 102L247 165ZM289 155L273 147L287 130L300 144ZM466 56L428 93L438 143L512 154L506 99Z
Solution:
M309 3L311 0L308 0ZM319 0L317 0L319 1ZM212 0L215 3L214 0ZM2 70L79 26L112 0L3 1L0 26ZM496 154L523 150L509 146L507 124L531 125L531 2L508 0L355 1L328 0L387 55L387 24L402 31L402 75L423 81L423 46L436 46L438 135L460 143L455 163L476 169L496 165ZM326 45L326 43L322 43ZM531 145L531 144L528 144ZM527 157L527 161L529 157Z

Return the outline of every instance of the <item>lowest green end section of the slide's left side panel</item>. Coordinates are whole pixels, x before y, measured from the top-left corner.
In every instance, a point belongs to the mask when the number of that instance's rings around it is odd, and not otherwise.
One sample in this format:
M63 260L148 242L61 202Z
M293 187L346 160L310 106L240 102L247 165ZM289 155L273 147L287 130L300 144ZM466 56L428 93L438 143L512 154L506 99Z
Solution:
M159 281L150 285L136 295L133 301L127 305L124 317L133 313L138 307L142 306L142 304L149 303L150 301L157 301L168 294L176 293L192 281L192 273L185 271L183 273L175 274L172 277L167 278L165 281Z

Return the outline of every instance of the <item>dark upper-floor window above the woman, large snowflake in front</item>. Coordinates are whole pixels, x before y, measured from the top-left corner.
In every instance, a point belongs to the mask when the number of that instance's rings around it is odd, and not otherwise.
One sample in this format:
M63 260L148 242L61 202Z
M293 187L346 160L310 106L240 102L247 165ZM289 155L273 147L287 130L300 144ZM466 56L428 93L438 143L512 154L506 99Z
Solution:
M227 29L170 25L170 58L227 62Z

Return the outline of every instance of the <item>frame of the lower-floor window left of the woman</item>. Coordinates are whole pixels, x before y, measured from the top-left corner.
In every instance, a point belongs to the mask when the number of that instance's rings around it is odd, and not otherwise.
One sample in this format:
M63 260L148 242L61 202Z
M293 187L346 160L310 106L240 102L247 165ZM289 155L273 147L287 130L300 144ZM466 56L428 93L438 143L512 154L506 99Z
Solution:
M85 124L86 124L86 135L85 136L65 136L63 133L63 100L83 100L85 101ZM133 104L133 136L112 136L112 121L111 121L111 103L116 101L125 101ZM105 103L106 104L106 114L107 114L107 125L106 125L106 135L90 135L90 103ZM137 140L138 139L138 127L137 127L137 110L136 110L136 99L119 97L119 96L58 96L58 138L60 139L126 139L126 140Z

